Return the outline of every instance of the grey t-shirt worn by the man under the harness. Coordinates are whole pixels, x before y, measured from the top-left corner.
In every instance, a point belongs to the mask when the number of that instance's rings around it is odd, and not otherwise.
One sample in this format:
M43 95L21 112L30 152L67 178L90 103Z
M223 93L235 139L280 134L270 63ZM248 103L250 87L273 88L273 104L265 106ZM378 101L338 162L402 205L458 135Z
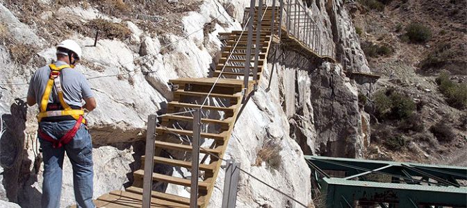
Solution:
M56 67L60 67L66 62L55 62ZM34 97L40 105L42 95L44 94L47 81L49 80L50 67L47 65L35 71L31 82L29 83L28 96ZM76 69L65 68L61 70L60 81L62 83L63 99L68 105L82 107L81 99L92 98L94 94L91 91L88 80L83 73ZM60 103L57 96L55 85L49 97L49 103Z

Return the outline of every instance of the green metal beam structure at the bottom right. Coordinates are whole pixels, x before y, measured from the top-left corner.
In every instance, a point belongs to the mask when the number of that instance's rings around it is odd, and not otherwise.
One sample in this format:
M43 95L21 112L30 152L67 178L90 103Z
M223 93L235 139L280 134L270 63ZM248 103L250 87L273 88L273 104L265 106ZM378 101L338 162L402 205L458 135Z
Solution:
M467 207L467 167L305 156L325 207ZM325 200L324 200L325 199Z

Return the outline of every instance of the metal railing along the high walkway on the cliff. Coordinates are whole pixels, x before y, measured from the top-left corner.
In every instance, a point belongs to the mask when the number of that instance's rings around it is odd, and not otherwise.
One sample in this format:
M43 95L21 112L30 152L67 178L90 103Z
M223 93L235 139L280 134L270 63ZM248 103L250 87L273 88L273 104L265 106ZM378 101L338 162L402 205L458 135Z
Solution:
M311 49L318 56L336 59L336 47L331 35L327 35L327 31L319 29L318 24L311 17L309 9L303 5L302 1L274 0L271 4L268 11L272 12L272 20L270 22L261 21L261 24L257 22L258 26L254 28L270 24L270 28L263 30L269 30L271 35L277 35L279 38L284 35L292 36L302 46ZM254 6L251 5L251 7ZM261 8L261 6L258 7ZM248 17L252 17L250 12L249 9L244 11L243 25ZM257 20L255 18L255 21Z

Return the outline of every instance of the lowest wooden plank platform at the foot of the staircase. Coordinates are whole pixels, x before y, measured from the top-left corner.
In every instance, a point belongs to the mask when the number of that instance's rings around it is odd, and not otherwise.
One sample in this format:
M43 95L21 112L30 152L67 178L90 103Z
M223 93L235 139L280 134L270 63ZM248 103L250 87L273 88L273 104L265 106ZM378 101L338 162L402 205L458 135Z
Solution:
M126 207L142 207L142 195L129 191L112 191L110 193L100 196L97 200L103 202L110 202L113 205L122 205ZM105 207L111 207L111 205L105 205ZM167 200L161 200L158 198L151 198L151 207L186 207L190 205L184 205L177 202L170 202Z

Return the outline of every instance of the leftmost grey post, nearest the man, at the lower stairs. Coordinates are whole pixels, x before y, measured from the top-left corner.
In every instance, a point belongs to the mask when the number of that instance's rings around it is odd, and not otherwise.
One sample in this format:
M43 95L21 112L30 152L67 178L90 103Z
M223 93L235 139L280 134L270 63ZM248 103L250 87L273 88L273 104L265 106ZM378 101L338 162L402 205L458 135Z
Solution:
M152 171L154 170L154 145L156 144L157 116L147 118L145 176L142 179L142 208L151 207Z

